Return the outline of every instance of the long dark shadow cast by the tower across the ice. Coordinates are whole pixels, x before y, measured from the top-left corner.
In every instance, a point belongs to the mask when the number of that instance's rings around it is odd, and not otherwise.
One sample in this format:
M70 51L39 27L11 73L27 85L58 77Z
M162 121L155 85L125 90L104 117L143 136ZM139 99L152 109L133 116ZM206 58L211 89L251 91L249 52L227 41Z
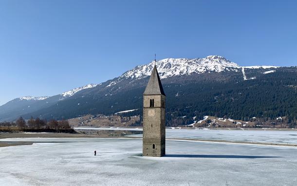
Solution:
M208 155L208 154L166 154L163 157L170 158L281 158L278 156L241 156L241 155Z

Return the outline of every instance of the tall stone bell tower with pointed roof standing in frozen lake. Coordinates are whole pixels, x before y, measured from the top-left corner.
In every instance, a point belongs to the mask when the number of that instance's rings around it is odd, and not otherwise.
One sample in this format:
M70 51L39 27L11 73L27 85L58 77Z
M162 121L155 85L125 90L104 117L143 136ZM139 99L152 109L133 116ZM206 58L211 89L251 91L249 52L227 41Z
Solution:
M165 98L155 65L143 93L143 156L165 155Z

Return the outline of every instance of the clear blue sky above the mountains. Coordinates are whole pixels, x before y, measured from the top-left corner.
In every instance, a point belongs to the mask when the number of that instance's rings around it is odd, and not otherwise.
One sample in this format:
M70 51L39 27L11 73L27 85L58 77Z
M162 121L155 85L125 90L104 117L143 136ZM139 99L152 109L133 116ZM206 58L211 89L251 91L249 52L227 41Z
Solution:
M0 105L158 59L297 65L297 0L0 0Z

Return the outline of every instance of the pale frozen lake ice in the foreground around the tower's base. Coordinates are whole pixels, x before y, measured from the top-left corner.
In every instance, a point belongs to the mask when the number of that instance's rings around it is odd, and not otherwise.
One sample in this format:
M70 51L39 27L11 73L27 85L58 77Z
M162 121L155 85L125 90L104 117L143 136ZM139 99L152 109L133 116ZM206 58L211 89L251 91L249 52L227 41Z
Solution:
M296 186L297 148L167 140L142 157L129 138L14 138L0 148L1 186ZM97 150L97 156L93 151Z

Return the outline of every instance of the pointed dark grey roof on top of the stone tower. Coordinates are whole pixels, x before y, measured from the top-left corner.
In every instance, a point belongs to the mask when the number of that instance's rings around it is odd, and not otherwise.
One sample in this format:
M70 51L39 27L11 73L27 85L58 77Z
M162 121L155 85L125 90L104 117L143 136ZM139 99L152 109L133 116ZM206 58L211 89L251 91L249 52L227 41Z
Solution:
M165 95L156 65L154 66L151 72L151 75L148 80L147 88L143 94L144 95L151 95L151 94Z

